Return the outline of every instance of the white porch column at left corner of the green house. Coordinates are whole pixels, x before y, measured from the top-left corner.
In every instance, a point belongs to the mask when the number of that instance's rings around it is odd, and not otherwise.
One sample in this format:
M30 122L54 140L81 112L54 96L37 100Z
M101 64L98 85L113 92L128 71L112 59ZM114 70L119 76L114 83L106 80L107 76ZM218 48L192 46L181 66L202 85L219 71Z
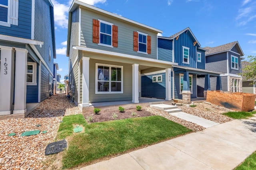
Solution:
M89 57L83 57L82 61L82 107L89 106Z

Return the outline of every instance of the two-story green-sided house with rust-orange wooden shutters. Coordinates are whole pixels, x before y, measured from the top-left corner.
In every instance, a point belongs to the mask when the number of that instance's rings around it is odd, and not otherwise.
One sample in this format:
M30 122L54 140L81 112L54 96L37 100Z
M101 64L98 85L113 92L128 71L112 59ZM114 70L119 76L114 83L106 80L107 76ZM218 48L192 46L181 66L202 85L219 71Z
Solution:
M165 70L169 75L176 63L157 59L158 33L162 31L74 0L67 56L70 89L79 108L91 102L139 103L141 74Z

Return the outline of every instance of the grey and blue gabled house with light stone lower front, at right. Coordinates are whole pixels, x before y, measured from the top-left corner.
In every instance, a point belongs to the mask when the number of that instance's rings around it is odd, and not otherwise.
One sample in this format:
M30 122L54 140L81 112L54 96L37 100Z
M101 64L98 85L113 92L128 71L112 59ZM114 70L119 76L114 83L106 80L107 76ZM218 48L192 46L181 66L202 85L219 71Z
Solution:
M220 45L218 47L204 47L206 51L207 70L223 72L221 74L222 91L242 92L241 60L244 53L238 43ZM214 89L212 89L214 90Z

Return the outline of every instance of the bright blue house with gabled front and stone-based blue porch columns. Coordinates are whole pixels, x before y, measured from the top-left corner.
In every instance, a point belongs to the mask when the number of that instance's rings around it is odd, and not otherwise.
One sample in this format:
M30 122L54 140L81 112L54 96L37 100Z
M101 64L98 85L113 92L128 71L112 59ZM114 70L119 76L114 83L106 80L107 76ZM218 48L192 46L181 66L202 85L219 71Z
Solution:
M215 88L220 90L221 72L205 70L206 51L189 27L170 37L158 37L158 60L177 65L168 68L168 75L163 70L142 74L142 97L166 99L169 92L172 99L190 102L191 98L206 95L213 83L210 77L215 78ZM203 79L202 87L197 86L198 77ZM165 86L166 82L170 82L171 88Z

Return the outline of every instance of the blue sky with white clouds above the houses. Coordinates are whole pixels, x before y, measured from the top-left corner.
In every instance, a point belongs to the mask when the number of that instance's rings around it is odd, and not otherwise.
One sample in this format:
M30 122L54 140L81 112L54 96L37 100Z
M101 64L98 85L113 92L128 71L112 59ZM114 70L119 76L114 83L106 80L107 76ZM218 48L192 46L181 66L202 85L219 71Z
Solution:
M190 27L202 47L238 41L245 56L256 56L256 0L80 0L163 31L162 36ZM66 40L72 0L54 4L58 73L68 74Z

